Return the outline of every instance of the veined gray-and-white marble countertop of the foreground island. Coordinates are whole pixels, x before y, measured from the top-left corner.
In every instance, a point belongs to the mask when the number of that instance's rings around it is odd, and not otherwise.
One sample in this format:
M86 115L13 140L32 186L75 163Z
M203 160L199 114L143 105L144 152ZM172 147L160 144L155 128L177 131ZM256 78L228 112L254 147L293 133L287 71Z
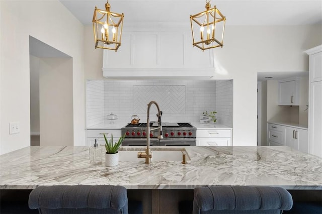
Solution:
M135 147L123 147L133 150ZM169 147L153 147L158 150ZM290 147L172 147L191 160L120 161L92 165L85 146L31 146L0 156L0 189L41 185L112 184L127 189L193 189L212 185L269 185L322 189L322 158ZM143 151L143 148L142 148ZM153 154L153 153L152 153Z

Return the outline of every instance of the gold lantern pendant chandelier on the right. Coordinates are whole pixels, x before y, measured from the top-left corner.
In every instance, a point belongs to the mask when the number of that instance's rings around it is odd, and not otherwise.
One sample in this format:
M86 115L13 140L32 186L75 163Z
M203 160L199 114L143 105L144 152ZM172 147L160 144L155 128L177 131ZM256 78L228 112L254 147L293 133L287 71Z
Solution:
M202 51L223 46L226 18L216 6L211 8L210 0L206 0L206 11L190 15L190 23L193 46Z

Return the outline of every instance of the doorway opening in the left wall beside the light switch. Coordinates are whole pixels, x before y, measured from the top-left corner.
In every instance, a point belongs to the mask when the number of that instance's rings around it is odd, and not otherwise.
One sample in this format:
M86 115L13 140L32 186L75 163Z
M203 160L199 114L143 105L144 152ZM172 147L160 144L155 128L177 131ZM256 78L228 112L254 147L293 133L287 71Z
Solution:
M72 58L29 36L31 146L73 145Z

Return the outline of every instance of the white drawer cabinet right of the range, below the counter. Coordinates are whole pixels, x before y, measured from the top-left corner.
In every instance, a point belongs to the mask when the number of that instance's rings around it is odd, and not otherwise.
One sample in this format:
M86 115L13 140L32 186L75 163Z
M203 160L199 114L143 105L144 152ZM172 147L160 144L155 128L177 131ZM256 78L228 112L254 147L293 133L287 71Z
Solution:
M231 146L231 130L197 129L197 146Z

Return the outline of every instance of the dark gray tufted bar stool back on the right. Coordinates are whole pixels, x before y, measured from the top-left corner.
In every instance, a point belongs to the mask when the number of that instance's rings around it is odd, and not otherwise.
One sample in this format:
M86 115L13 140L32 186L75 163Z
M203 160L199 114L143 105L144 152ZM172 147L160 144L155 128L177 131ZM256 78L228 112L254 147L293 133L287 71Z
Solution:
M292 207L291 194L281 187L214 186L194 189L195 213L282 213Z

